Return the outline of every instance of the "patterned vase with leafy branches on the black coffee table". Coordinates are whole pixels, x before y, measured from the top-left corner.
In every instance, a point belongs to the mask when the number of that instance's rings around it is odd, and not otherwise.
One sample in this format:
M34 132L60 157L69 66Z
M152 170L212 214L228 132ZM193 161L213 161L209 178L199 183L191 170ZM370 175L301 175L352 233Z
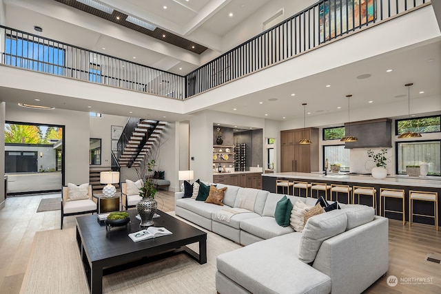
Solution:
M154 224L153 216L158 209L158 203L154 200L157 190L152 181L154 175L152 171L154 171L155 162L156 160L152 159L144 161L140 168L135 167L139 178L145 179L143 187L139 189L139 196L142 199L136 203L136 210L139 216L141 216L141 223L139 224L141 227L149 227Z

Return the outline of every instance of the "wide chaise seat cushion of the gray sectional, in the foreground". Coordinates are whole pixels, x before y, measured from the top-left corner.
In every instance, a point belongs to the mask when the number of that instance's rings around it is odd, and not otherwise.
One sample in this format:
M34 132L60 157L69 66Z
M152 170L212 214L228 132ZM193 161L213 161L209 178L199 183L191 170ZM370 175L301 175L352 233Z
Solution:
M256 242L218 255L216 267L250 293L330 293L331 279L298 260L299 240L289 233Z

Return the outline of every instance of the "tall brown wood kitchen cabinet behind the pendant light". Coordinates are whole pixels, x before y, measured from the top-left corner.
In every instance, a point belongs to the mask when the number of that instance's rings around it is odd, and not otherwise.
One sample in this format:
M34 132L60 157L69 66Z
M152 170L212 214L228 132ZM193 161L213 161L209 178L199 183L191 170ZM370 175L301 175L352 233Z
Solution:
M307 138L311 144L298 144ZM318 171L318 129L289 129L280 132L280 171Z

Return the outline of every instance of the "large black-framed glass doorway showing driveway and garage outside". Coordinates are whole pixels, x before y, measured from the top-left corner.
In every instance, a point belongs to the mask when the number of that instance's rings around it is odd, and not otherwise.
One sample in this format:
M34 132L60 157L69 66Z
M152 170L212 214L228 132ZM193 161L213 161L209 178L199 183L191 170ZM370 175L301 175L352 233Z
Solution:
M63 125L6 121L7 196L61 191L64 129Z

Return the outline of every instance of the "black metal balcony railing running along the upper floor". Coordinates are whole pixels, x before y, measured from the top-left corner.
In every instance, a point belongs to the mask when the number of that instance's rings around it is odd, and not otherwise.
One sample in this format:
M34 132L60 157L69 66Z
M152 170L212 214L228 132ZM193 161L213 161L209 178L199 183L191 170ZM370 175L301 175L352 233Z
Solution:
M0 25L1 63L127 90L185 99L294 58L429 0L323 0L179 76Z

